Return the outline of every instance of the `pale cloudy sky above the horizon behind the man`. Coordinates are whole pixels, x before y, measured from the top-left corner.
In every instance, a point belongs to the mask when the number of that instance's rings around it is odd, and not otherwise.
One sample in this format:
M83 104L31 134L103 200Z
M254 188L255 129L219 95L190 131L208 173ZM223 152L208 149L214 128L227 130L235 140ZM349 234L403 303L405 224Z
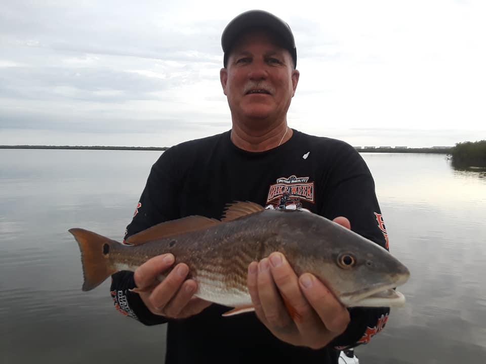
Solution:
M289 126L353 146L486 139L484 0L16 0L0 7L0 145L170 147L229 130L221 32L250 9L294 32Z

